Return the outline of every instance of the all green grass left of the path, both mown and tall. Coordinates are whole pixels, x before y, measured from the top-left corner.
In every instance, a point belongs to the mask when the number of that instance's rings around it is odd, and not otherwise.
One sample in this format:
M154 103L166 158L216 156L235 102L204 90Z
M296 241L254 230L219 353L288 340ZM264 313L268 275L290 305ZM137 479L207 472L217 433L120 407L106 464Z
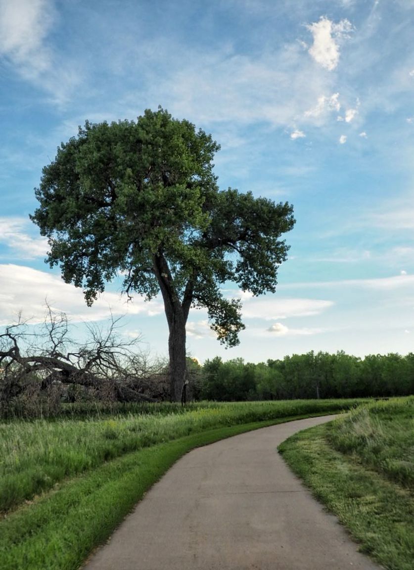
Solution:
M75 570L186 451L357 402L147 406L141 414L1 424L0 570Z

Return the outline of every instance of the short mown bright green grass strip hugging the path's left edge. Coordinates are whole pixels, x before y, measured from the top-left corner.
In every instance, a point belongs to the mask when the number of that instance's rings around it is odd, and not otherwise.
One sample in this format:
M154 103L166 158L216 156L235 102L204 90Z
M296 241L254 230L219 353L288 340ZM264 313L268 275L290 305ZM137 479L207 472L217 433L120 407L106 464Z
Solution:
M97 544L108 538L145 491L187 451L301 417L304 416L187 435L126 454L62 482L0 521L1 570L75 570Z

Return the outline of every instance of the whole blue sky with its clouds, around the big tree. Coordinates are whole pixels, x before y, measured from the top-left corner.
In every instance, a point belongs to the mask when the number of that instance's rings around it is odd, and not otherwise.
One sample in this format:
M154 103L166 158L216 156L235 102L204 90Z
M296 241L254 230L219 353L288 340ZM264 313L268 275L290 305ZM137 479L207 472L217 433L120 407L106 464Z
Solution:
M297 219L276 294L226 290L244 302L239 347L193 311L193 356L413 351L413 32L413 0L0 0L0 323L39 322L47 298L81 335L110 307L166 355L160 300L127 305L112 283L88 308L28 220L78 125L161 104L221 144L221 188Z

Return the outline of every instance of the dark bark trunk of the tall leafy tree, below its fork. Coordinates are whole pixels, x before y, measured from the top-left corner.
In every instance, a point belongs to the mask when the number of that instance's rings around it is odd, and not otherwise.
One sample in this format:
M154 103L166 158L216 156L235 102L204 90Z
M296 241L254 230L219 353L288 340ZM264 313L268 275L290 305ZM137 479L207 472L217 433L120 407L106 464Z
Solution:
M182 311L178 310L173 317L168 339L172 402L181 401L182 390L186 379L186 323L183 315L179 313L182 313Z

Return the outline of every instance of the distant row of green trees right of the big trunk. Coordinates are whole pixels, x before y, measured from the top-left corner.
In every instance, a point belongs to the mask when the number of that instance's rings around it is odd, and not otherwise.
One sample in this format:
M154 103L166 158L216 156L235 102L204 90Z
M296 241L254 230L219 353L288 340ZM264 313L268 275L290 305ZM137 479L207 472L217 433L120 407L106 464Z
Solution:
M408 396L414 393L414 353L347 355L310 351L266 363L206 360L195 396L218 401Z

